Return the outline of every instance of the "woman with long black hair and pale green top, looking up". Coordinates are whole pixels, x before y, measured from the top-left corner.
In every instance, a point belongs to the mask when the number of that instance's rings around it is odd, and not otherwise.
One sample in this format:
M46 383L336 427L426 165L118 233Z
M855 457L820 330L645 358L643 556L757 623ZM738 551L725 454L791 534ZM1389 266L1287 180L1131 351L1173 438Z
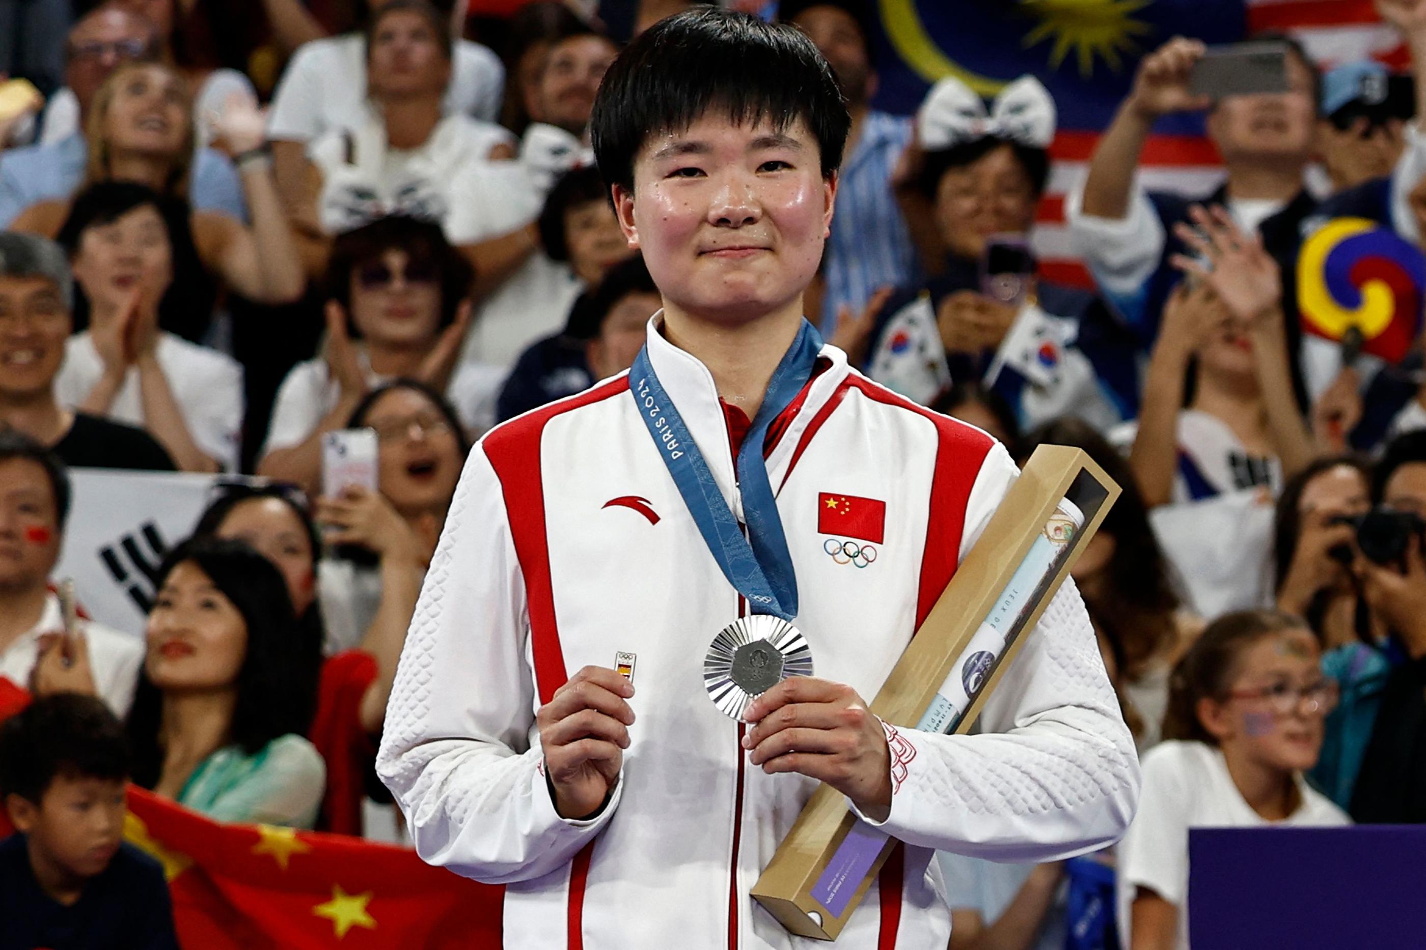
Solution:
M278 570L240 541L180 546L158 570L147 648L134 782L220 822L311 828L324 768L302 735L321 644Z

